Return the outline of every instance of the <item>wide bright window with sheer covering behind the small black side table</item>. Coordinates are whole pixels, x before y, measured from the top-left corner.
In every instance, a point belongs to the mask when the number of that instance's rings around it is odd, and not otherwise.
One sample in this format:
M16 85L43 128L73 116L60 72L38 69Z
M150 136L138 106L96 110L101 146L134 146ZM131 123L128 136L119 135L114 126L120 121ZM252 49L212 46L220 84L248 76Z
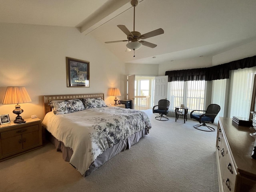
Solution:
M189 111L204 110L206 98L206 81L169 82L170 110L184 104Z

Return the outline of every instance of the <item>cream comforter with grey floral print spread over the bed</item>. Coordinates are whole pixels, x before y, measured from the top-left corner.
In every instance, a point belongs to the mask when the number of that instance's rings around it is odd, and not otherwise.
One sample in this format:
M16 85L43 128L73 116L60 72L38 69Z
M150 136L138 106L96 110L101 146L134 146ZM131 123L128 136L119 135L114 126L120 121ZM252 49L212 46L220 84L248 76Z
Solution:
M42 126L72 148L70 164L82 175L106 149L144 128L151 128L145 112L119 107L90 108L60 115L49 112Z

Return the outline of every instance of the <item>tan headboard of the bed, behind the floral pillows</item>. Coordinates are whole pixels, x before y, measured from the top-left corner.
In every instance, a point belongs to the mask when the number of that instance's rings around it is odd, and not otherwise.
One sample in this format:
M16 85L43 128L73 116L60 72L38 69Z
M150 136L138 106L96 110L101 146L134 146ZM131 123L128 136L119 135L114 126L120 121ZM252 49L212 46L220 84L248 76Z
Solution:
M88 93L88 94L73 94L73 95L45 95L44 96L44 115L52 110L48 105L52 100L69 100L82 98L101 98L104 100L104 93Z

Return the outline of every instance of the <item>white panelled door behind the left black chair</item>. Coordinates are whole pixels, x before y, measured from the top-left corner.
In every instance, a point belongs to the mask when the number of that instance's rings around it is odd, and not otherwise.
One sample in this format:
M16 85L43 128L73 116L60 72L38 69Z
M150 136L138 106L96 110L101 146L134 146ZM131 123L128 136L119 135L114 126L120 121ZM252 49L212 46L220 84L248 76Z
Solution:
M158 105L161 99L167 99L168 75L155 77L154 105Z

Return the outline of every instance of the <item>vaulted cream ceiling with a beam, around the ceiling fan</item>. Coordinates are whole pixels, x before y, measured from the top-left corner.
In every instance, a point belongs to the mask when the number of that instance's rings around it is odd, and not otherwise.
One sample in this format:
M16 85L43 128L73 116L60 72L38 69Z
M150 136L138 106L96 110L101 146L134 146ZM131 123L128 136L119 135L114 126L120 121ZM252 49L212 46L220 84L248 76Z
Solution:
M214 56L256 40L255 0L139 0L135 30L162 28L147 38L156 48L125 52L127 42L117 25L133 30L130 0L0 0L0 22L77 27L94 37L121 61L163 64L171 60ZM156 58L153 58L156 57Z

